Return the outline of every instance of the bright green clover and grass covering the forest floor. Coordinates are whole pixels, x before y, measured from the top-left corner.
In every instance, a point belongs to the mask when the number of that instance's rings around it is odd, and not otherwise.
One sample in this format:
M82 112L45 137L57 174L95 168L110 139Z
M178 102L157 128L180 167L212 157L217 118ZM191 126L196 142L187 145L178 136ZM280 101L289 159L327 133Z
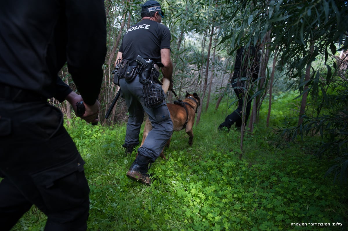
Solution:
M292 98L280 98L288 106L275 112L286 114ZM331 175L324 178L329 158L311 155L308 142L269 146L264 118L246 135L239 160L240 132L217 130L226 105L216 112L211 105L201 115L192 147L184 131L173 134L164 153L168 159L159 157L151 166L151 186L126 177L135 154L123 156L125 125L90 126L74 119L67 129L86 160L88 230L348 230L348 187L334 184ZM273 118L271 126L281 122ZM13 230L43 230L45 221L33 207Z

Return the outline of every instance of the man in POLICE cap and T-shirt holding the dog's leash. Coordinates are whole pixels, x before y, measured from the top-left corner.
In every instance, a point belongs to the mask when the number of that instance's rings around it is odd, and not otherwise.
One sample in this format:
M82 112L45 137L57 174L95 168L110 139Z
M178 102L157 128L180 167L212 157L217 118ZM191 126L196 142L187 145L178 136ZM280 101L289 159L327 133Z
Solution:
M120 58L123 63L127 60L130 66L137 65L138 55L145 60L160 62L164 66L161 68L163 77L172 85L171 34L169 29L161 24L163 15L164 13L157 1L145 2L141 7L142 20L127 30L122 39L117 59ZM139 144L140 128L144 112L146 112L152 123L152 130L143 146L138 149L138 155L130 166L127 176L132 180L151 184L150 176L147 173L148 165L155 162L171 137L173 123L165 101L151 108L144 106L143 84L139 82L139 77L136 75L131 81L126 81L124 78L119 80L122 96L129 112L123 147L127 148L126 151L131 152L133 147ZM162 88L160 89L163 91Z

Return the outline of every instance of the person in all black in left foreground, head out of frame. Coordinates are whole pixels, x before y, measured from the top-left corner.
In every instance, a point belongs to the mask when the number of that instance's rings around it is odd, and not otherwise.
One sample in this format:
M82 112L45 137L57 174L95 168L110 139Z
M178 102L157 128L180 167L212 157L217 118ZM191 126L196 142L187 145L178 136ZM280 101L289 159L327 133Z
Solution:
M45 230L86 230L84 160L47 98L68 100L97 121L106 55L103 0L0 2L0 229L37 206ZM68 61L80 95L57 73Z

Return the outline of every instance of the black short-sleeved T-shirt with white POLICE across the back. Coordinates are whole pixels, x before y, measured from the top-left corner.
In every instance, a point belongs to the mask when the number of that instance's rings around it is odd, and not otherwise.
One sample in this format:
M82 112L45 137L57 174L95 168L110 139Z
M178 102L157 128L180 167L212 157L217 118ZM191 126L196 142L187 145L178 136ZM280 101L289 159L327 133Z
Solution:
M150 19L130 27L123 36L119 52L122 59L129 60L129 65L136 66L136 57L140 55L145 60L161 61L161 49L170 49L171 33L165 25Z

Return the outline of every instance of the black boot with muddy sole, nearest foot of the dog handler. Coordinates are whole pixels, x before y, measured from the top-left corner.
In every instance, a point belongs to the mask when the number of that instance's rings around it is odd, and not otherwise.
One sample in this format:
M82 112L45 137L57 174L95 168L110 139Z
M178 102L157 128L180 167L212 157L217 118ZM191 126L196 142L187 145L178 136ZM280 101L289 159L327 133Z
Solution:
M149 170L149 158L138 155L132 165L130 166L127 177L134 181L140 181L140 183L150 185L151 179L148 174Z

